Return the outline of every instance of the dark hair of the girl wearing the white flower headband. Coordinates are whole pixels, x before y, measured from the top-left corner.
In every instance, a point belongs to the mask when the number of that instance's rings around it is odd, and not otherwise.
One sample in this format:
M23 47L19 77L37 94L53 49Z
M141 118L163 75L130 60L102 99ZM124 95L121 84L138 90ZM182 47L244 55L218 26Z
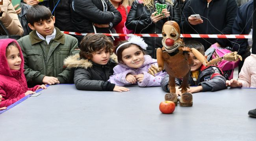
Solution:
M122 51L124 51L124 49L127 49L128 47L130 47L131 45L136 45L134 43L127 43L125 45L122 45L121 47L119 47L121 44L123 43L126 43L128 41L121 41L118 43L118 45L115 47L115 54L117 55L117 61L119 63L122 62ZM143 54L145 55L145 52L143 51L143 49L139 46L139 45L136 45L137 47L139 47L139 50L141 50L143 52ZM119 49L117 50L117 47L119 47Z

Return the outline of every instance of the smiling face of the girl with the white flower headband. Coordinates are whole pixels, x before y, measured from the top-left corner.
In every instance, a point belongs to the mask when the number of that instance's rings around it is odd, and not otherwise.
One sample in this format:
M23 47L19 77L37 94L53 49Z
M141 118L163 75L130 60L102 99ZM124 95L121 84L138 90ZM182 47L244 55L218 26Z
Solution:
M122 63L128 67L137 69L143 65L144 61L144 54L137 45L131 45L122 51Z

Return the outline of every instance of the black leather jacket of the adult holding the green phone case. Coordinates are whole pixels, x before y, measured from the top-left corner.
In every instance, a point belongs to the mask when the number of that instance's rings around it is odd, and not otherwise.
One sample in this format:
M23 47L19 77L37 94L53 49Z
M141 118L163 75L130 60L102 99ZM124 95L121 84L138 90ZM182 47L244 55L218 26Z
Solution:
M156 3L165 4L165 0L154 0L154 5ZM174 20L175 22L180 21L180 9L176 0L173 1L174 5L167 5L167 9L170 12L168 18L163 18L154 24L151 20L151 14L156 11L156 9L147 9L143 4L139 3L137 0L132 4L131 10L127 16L125 26L127 29L133 30L134 33L141 34L161 34L162 27L167 20ZM148 44L147 50L145 51L152 58L156 58L156 50L158 47L163 47L161 37L143 37L145 42Z

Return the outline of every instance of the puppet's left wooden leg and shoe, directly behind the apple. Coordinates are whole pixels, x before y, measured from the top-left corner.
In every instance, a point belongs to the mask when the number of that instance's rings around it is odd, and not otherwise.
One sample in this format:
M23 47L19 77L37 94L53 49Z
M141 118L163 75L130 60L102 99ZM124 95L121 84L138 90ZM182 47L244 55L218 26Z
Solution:
M175 78L171 76L169 76L169 89L170 93L165 94L165 100L173 101L175 103L175 106L177 106L178 99L175 89Z

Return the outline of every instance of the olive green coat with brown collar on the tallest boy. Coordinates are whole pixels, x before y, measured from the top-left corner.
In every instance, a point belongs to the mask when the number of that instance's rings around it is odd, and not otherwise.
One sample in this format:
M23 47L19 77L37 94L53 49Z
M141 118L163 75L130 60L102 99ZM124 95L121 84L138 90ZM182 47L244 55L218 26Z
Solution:
M63 67L63 60L79 52L76 38L56 28L56 36L49 44L40 39L35 30L17 42L22 49L24 74L30 85L42 84L45 76L56 77L60 83L72 82L73 72Z

